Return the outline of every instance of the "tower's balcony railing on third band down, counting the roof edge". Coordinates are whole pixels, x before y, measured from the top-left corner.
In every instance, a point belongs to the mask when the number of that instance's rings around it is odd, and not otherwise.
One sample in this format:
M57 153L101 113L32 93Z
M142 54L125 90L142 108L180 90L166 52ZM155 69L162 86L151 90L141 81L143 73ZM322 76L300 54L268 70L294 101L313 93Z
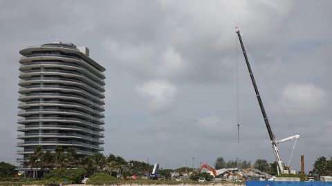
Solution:
M73 67L77 70L84 72L84 75L91 76L93 79L95 79L95 81L98 81L100 83L100 85L105 85L104 79L100 78L99 76L96 76L89 70L82 68L82 66L75 65L73 63L64 63L64 62L57 62L57 61L34 61L34 62L30 62L30 63L21 64L20 69L27 67L29 65L61 65L61 66L66 66L66 67ZM24 72L26 72L26 71L24 71Z

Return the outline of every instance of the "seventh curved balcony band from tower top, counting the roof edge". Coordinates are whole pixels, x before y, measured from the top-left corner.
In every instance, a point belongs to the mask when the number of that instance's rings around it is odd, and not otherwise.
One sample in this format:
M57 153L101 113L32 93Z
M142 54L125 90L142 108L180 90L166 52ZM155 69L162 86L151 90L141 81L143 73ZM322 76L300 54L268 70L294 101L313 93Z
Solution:
M19 95L19 101L27 101L29 99L37 99L39 97L75 100L75 101L80 101L81 103L85 103L86 105L93 105L95 108L100 109L101 112L105 110L102 105L97 104L97 103L93 103L93 101L90 101L89 99L85 99L82 96L76 96L74 94L59 94L59 93L24 94L24 95ZM22 103L22 104L24 104L24 103Z

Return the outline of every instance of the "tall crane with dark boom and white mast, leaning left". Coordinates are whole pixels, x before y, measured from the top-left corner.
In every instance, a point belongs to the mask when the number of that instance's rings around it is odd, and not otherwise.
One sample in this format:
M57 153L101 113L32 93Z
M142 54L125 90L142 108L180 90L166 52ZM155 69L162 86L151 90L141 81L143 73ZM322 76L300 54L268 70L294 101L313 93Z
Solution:
M257 101L259 103L259 107L261 108L261 114L263 115L264 122L265 122L266 128L268 130L268 135L270 136L270 141L271 141L271 144L272 144L273 152L275 153L275 158L277 160L278 175L279 175L279 173L285 174L288 171L284 170L284 164L282 163L282 159L280 158L279 149L277 147L277 144L282 143L284 141L293 140L293 139L295 139L295 143L296 143L297 138L299 138L299 134L295 134L293 136L290 136L288 138L284 138L284 139L279 140L279 141L277 141L275 139L275 133L272 131L272 129L270 127L270 123L268 122L268 116L266 115L263 102L261 101L261 96L259 95L259 92L258 92L258 88L257 88L256 82L255 82L254 74L252 74L252 70L250 68L250 63L249 63L249 60L248 60L246 50L244 49L244 45L243 45L243 41L241 39L241 34L240 34L239 28L236 28L236 32L237 32L237 36L239 37L239 41L240 41L240 44L241 44L244 59L246 60L246 64L247 64L247 67L248 67L248 71L249 71L249 74L250 74L252 85L254 86L254 89L255 89L255 93L256 93L256 96L257 96Z

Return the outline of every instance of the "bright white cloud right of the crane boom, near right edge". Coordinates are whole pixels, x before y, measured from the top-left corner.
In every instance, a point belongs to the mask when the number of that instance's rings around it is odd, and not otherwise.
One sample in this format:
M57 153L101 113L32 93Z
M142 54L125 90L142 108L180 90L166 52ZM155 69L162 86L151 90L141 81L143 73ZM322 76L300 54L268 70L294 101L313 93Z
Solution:
M280 103L285 107L288 114L301 115L317 112L328 103L326 92L313 85L292 83L282 90Z

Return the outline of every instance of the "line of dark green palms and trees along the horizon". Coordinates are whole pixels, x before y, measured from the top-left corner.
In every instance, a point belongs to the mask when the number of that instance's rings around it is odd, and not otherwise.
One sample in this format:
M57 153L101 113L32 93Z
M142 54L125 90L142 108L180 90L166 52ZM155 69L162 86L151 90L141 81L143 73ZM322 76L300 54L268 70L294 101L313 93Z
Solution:
M30 167L31 170L40 168L44 172L44 177L48 170L52 169L77 169L82 168L85 170L87 177L96 172L106 172L107 174L115 177L132 176L146 176L148 172L151 172L153 165L142 161L126 161L121 156L115 156L109 154L97 153L93 156L82 156L77 154L75 150L68 149L66 152L61 146L55 147L55 153L50 151L42 151L42 146L35 148L35 152L28 156L28 159L24 162L26 167ZM266 172L273 176L277 175L277 162L268 163L265 159L257 159L252 165L250 161L241 160L236 158L234 160L225 161L223 157L216 158L214 163L215 169L222 168L255 168L262 172ZM160 169L159 174L164 178L170 178L172 172L192 172L190 167L178 167L177 169ZM332 156L326 158L321 156L317 158L313 164L313 169L308 172L314 176L332 176ZM0 178L12 178L15 175L15 166L9 163L0 163ZM26 175L31 177L32 175Z

